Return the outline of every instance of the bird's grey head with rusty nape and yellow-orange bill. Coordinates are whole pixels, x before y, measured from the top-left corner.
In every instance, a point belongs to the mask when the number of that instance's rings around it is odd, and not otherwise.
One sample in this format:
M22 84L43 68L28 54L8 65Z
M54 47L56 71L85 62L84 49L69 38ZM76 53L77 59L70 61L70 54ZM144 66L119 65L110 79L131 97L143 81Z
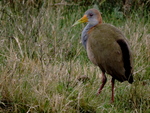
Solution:
M102 23L102 17L100 12L96 9L89 9L84 13L84 16L76 21L72 26L86 22L93 26Z

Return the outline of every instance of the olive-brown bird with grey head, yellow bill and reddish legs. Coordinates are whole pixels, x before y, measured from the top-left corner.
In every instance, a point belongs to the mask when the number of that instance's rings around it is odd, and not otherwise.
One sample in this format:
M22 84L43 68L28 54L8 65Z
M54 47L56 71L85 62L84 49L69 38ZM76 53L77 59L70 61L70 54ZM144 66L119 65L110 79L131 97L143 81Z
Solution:
M81 41L90 61L102 72L102 83L97 94L100 94L111 75L111 102L114 102L115 80L133 83L133 55L128 39L114 25L103 23L97 9L87 10L83 17L72 26L87 23L81 34Z

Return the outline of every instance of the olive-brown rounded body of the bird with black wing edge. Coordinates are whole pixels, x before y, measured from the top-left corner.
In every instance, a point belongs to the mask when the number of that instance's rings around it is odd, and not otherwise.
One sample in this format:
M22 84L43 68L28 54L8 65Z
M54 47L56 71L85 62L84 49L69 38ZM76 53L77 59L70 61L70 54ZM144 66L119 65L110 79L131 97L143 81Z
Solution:
M103 72L121 82L133 82L130 47L126 37L116 27L98 24L89 30L87 53L89 59Z

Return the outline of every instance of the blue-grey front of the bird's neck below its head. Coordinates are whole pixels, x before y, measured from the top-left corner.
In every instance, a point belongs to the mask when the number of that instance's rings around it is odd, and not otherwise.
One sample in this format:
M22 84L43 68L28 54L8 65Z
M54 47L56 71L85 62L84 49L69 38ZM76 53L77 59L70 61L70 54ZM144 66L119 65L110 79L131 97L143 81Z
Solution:
M93 26L95 26L95 25L87 24L85 26L85 28L83 29L83 31L82 31L81 40L82 40L82 44L83 44L83 46L84 46L85 49L86 49L86 43L87 43L87 39L88 39L88 31Z

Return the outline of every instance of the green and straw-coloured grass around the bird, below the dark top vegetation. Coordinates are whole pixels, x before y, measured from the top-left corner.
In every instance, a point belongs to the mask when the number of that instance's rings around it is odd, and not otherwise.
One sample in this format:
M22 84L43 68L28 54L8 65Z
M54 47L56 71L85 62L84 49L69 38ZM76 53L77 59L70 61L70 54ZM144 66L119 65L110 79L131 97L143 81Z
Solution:
M71 27L87 7L0 4L0 8L0 112L150 113L148 11L138 9L124 17L122 12L100 9L103 21L124 32L134 53L135 81L132 85L116 81L111 104L109 75L96 96L101 71L80 43L85 24ZM83 75L88 78L79 80Z

